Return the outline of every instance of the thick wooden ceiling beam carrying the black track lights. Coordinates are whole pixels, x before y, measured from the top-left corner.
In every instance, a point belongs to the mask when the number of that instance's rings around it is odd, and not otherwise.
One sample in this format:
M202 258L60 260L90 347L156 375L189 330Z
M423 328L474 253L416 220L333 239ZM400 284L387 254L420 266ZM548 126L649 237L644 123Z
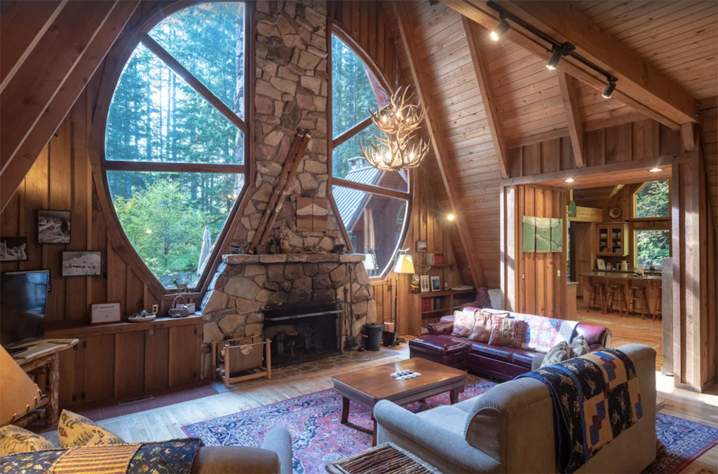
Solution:
M460 14L469 17L488 29L498 25L498 12L490 9L483 0L441 0ZM679 130L681 123L698 120L696 100L681 87L648 65L637 54L623 46L617 39L589 21L573 9L566 0L495 0L533 27L554 37L559 42L571 42L577 52L604 67L618 77L617 88L612 97L638 110L648 118ZM526 29L510 22L505 37L546 60L551 51L544 40ZM602 91L606 78L569 57L558 65L595 89Z

